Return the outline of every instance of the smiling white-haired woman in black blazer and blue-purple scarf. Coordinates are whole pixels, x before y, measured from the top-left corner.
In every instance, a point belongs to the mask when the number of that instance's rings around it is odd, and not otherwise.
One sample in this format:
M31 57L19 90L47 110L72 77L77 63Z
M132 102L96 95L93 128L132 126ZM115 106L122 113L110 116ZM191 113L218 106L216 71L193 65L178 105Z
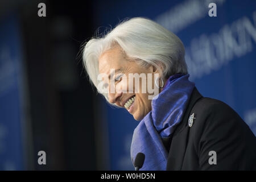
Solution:
M254 134L224 102L201 96L184 53L172 32L132 18L89 40L83 60L98 92L140 121L131 159L145 155L141 170L256 169Z

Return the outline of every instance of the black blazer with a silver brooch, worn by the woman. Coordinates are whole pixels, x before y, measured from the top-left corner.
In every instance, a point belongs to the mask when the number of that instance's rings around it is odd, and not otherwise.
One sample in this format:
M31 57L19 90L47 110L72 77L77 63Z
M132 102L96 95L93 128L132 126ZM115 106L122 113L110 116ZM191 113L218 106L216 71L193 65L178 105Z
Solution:
M256 170L256 138L250 128L231 107L201 96L196 88L183 121L165 145L167 170ZM209 164L210 151L216 152L216 164Z

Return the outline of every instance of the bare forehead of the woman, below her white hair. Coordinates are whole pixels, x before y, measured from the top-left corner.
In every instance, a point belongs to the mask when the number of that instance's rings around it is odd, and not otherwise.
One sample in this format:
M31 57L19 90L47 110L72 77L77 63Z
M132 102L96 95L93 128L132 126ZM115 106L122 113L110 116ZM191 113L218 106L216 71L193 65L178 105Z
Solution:
M104 52L98 59L98 70L100 73L109 74L110 69L121 68L125 64L125 55L119 49L114 47Z

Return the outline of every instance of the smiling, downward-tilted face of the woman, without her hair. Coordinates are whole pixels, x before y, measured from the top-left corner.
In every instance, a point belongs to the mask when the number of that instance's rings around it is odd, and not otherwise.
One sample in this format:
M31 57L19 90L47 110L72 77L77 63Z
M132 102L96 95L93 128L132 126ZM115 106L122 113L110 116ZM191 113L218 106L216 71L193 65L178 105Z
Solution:
M104 85L108 88L109 102L117 106L124 107L137 121L141 120L151 110L151 100L148 99L149 94L142 92L142 78L139 78L139 84L135 84L135 78L129 79L129 73L143 73L146 80L151 82L151 88L154 88L154 74L158 73L155 68L150 65L147 68L141 67L135 61L127 60L119 46L115 46L109 51L104 52L98 59L98 68L100 73L107 76L110 75L110 69L115 70L112 77L104 77ZM147 73L152 74L152 78ZM112 82L110 80L112 79ZM146 84L148 83L146 81ZM114 92L110 92L110 84L114 84ZM158 89L158 88L157 88ZM159 90L160 92L161 90Z

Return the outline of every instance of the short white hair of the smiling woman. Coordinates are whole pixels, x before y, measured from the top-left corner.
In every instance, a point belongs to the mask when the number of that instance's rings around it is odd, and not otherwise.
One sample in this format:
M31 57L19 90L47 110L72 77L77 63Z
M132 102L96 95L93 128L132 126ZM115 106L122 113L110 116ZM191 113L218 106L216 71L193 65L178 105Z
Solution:
M154 65L164 78L176 73L187 74L185 48L181 40L150 19L131 18L123 20L107 34L93 37L85 43L82 52L84 68L96 88L100 82L97 80L98 59L116 44L139 65ZM101 93L99 88L97 91ZM108 94L101 94L109 101Z

